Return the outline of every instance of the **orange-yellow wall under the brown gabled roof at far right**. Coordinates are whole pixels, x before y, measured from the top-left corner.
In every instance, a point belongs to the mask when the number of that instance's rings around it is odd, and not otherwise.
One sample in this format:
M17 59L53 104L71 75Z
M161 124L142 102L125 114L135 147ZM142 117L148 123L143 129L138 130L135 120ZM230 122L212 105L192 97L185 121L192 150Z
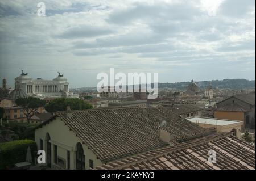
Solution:
M215 118L217 119L245 121L245 115L243 112L215 111L214 114L215 114Z

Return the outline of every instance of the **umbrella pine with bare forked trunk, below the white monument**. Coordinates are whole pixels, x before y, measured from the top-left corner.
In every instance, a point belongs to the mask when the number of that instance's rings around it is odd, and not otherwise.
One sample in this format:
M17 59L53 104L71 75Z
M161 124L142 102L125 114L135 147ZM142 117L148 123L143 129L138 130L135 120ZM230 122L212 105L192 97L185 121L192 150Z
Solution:
M27 117L27 122L30 123L30 119L32 116L34 116L35 112L38 110L39 107L43 107L44 100L41 100L39 98L18 98L16 99L16 104L23 108L23 113Z

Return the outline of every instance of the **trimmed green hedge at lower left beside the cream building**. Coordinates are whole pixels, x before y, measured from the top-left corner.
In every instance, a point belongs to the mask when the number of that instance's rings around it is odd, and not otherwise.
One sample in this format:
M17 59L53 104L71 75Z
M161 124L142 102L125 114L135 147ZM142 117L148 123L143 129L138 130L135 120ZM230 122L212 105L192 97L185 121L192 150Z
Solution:
M15 163L26 161L28 146L30 146L32 161L34 161L34 151L37 150L35 141L15 140L0 143L0 169L13 167Z

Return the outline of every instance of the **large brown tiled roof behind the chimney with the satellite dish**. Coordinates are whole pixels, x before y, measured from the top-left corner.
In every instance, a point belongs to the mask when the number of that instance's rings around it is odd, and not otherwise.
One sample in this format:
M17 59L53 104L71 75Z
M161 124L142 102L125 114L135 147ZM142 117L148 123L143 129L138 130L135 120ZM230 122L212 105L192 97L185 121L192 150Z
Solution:
M177 142L212 134L179 114L164 108L113 108L57 114L101 161L108 161L166 146L160 140L160 123ZM46 124L46 123L45 123Z

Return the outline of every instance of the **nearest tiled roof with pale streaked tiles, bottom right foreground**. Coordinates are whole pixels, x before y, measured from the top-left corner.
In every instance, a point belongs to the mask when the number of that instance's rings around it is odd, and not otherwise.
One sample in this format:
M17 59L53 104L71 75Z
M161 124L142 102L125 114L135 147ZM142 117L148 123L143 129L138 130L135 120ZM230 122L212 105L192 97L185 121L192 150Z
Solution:
M209 150L216 151L216 163L208 162ZM255 170L255 146L230 133L215 133L182 144L175 143L174 147L166 146L109 162L96 169Z

